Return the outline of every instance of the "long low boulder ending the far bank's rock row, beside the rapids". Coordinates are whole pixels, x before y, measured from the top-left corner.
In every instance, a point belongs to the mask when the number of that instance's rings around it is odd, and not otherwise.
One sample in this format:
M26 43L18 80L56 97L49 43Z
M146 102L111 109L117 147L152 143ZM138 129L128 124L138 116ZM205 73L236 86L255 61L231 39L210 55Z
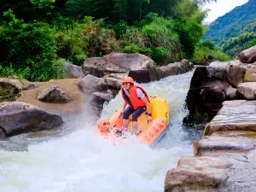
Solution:
M159 79L166 78L170 75L186 73L191 70L193 65L188 60L170 63L166 66L156 67L156 72Z

